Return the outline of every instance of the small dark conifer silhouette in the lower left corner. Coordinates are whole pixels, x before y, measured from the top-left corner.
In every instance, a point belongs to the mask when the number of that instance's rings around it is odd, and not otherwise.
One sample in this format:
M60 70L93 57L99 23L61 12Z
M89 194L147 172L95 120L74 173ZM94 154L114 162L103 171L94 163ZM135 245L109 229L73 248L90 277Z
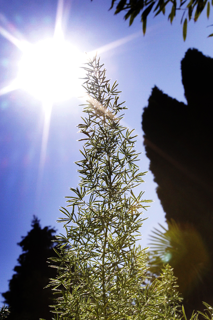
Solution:
M54 304L50 288L44 288L49 278L55 278L57 269L49 267L47 260L56 257L54 251L55 229L40 226L35 216L32 230L22 237L18 244L23 253L19 256L19 265L9 283L9 291L2 295L10 307L8 320L50 320L53 314L49 305Z

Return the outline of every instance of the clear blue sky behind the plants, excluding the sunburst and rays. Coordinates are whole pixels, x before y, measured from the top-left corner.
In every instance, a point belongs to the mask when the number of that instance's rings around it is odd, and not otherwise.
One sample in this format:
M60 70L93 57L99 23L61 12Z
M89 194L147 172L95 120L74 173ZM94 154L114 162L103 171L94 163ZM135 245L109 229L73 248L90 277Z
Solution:
M80 51L89 52L116 40L141 31L139 19L131 27L108 11L110 0L65 1L65 36ZM32 43L52 36L56 16L56 0L1 0L0 26L18 36L18 31ZM166 12L168 15L168 12ZM7 19L7 21L6 21ZM172 26L167 17L151 16L147 33L101 54L108 78L118 80L121 99L129 108L124 122L135 128L138 136L137 150L142 152L141 170L148 171L141 130L142 109L147 105L151 88L157 85L165 93L184 101L181 83L180 60L188 48L197 48L212 56L213 38L207 38L212 23L205 13L194 24L188 25L186 42L182 38L179 16ZM124 41L125 42L125 41ZM17 72L21 52L3 36L0 36L0 89L9 84ZM33 214L41 219L42 227L51 225L61 232L62 226L55 221L60 216L58 208L65 206L64 196L69 196L69 187L76 187L78 174L74 161L81 158L78 151L82 142L75 127L80 122L81 103L73 98L53 106L47 159L42 181L40 200L35 200L40 158L44 113L38 100L21 90L0 97L0 292L8 288L16 259L20 254L17 242L30 230ZM180 123L181 126L181 123ZM155 202L144 217L141 232L142 246L148 243L148 234L158 222L164 224L164 212L156 196L156 184L149 172L141 186L145 198ZM1 299L3 300L3 299Z

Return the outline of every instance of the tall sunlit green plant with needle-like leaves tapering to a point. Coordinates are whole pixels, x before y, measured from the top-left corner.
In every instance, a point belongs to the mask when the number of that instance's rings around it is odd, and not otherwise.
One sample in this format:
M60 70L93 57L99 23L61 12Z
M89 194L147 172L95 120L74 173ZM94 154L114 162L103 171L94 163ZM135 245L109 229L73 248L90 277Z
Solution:
M58 237L61 254L54 259L61 263L58 278L52 279L61 294L57 318L175 319L173 298L165 295L165 283L175 288L169 267L162 280L144 287L147 255L136 241L142 209L151 200L142 199L142 191L133 193L146 172L137 165L136 135L120 123L126 107L118 101L118 84L110 87L96 57L85 70L86 117L78 125L85 143L83 159L76 162L80 183L66 197L71 210L60 210L66 234Z

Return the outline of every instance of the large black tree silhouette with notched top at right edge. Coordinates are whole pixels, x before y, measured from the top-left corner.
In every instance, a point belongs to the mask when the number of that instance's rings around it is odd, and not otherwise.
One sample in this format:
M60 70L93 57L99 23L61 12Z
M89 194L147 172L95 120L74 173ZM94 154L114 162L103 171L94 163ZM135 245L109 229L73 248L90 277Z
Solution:
M213 303L213 59L189 49L181 71L187 105L154 87L142 128L167 240L173 236L179 252L179 260L175 253L167 261L190 312L201 301Z

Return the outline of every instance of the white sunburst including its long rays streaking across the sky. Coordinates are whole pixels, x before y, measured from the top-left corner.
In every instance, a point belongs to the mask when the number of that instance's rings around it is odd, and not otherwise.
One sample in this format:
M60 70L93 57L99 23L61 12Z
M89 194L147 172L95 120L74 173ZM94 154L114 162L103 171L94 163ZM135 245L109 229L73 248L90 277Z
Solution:
M42 101L44 109L44 125L37 182L37 200L42 189L42 176L46 159L46 150L49 136L49 124L52 105L54 102L69 100L82 95L83 69L80 65L86 57L72 44L64 39L62 32L63 0L58 0L55 33L53 38L44 39L37 44L30 44L26 40L19 40L0 26L0 34L16 45L22 52L18 63L18 76L7 87L0 89L0 95L16 89L23 89L35 98ZM142 33L135 33L114 41L103 47L89 52L88 56L106 52L116 48Z

